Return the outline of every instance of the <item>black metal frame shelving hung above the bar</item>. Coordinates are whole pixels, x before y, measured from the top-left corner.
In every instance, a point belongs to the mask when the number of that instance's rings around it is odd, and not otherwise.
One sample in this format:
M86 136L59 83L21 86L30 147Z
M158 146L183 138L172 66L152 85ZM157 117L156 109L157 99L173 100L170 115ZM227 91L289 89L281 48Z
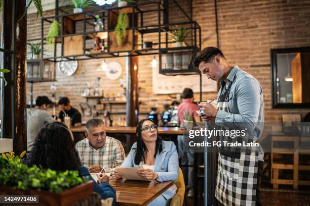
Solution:
M162 3L161 1L154 1L154 2L147 2L147 3L139 3L139 4L134 4L134 5L129 5L126 7L108 7L108 8L100 8L100 9L95 9L90 12L82 12L82 13L76 13L76 14L63 14L63 15L58 15L58 8L56 8L55 14L56 16L51 16L51 17L43 17L42 22L41 22L41 38L32 38L28 39L28 41L41 41L41 58L43 60L48 60L48 61L54 61L54 62L59 62L59 61L71 61L74 59L78 60L89 60L89 59L102 59L102 58L114 58L114 57L127 57L127 56L142 56L142 55L159 55L160 56L160 73L162 74L171 74L171 75L178 75L178 74L198 74L199 71L193 67L190 66L188 70L182 70L182 71L177 71L177 70L167 70L162 71L162 65L161 65L161 58L162 55L169 52L169 51L182 51L182 50L191 50L193 51L193 55L195 55L199 50L201 49L201 27L196 21L192 21L191 18L185 13L185 11L181 8L181 6L173 0L173 2L177 5L177 7L180 9L180 11L186 16L188 19L187 22L179 22L179 23L168 23L169 22L169 16L167 15L167 7L168 1L164 1ZM56 6L58 6L57 1L56 1ZM146 9L145 9L146 8ZM133 30L137 31L139 34L141 34L141 38L143 38L143 34L146 33L158 33L158 42L153 42L153 45L158 45L158 48L147 48L147 49L137 49L140 44L135 44L135 32L132 32L132 49L130 50L120 50L120 51L114 51L110 52L110 44L109 44L109 32L113 32L114 29L110 29L109 25L109 16L111 12L114 12L116 10L120 9L132 9L133 13L131 13L131 22L132 24L127 28L127 30ZM150 13L150 12L158 12L158 24L157 25L147 25L145 26L143 24L143 19L144 19L144 14ZM86 40L88 38L87 35L89 34L96 34L98 32L86 31L86 24L91 24L88 22L89 19L92 19L94 17L94 13L102 13L103 15L101 18L107 20L107 26L104 28L103 31L101 32L107 32L107 51L106 52L101 52L101 53L96 53L96 54L88 54L88 48L86 48ZM83 18L81 18L81 15ZM134 22L137 20L138 15L140 16L140 26L136 26ZM163 18L163 23L161 20L161 15L164 16ZM74 18L80 16L80 19L74 21L83 21L83 32L78 32L78 33L73 33L73 34L64 34L63 33L63 20L64 18ZM56 43L54 47L54 56L51 57L45 57L44 54L44 45L46 36L44 36L44 23L49 22L52 23L53 20L59 20L60 19L60 24L61 24L61 32L60 35L57 38L60 38L60 44L61 44L61 56L56 55ZM93 24L92 24L93 25ZM169 41L168 37L168 32L174 30L171 29L171 27L176 27L176 26L187 26L188 29L190 29L191 32L191 39L190 43L191 45L189 46L182 46L182 47L169 47L169 44L173 43L173 41ZM165 33L166 35L164 36L165 40L162 41L162 33ZM81 55L71 55L71 56L64 56L63 50L63 38L68 37L68 36L75 36L75 35L83 35L83 54ZM175 73L175 74L174 74Z

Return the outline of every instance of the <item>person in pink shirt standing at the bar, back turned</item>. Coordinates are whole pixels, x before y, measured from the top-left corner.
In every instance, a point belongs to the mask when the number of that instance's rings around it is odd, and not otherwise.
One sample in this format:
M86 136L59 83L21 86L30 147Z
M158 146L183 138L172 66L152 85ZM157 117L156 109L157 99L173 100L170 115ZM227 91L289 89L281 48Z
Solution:
M178 106L178 119L180 122L180 126L183 126L183 122L186 116L190 115L193 122L199 122L200 117L196 113L198 111L198 106L193 102L193 91L190 88L185 88L182 93L182 103ZM190 151L184 152L183 144L184 144L184 137L183 135L178 135L178 151L179 151L179 158L181 158L181 165L183 174L185 178L187 177L189 191L187 196L193 197L193 160L194 156L193 153ZM186 143L184 144L186 145ZM187 149L188 150L188 149Z

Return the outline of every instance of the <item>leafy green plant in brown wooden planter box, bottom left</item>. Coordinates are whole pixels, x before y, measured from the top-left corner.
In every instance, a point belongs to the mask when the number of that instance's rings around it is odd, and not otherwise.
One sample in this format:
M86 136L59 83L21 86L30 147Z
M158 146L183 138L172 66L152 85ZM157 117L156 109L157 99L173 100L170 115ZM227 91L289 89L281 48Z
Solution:
M70 205L93 193L93 183L78 171L54 171L27 167L21 161L26 152L0 156L0 195L38 195L39 204Z

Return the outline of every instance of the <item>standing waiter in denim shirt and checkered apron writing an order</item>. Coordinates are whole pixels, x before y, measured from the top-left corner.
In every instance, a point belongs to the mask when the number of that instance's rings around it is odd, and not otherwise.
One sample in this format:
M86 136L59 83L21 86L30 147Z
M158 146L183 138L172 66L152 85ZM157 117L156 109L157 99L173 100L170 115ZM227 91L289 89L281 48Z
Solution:
M217 108L202 102L206 122L242 124L257 141L264 122L264 102L260 83L237 65L230 66L216 47L204 48L194 64L208 79L218 81ZM221 138L220 138L221 139ZM248 141L250 141L248 139ZM231 148L233 149L233 148ZM263 167L263 150L248 147L239 153L219 148L215 197L223 205L260 205L259 185Z

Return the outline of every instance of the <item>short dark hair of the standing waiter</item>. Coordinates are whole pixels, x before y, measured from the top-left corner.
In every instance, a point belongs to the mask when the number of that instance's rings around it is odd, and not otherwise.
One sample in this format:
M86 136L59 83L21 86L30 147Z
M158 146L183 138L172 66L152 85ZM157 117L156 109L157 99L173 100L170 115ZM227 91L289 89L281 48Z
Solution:
M223 53L219 48L213 46L205 47L201 50L200 53L196 55L193 60L193 64L195 65L195 67L198 68L201 62L210 63L215 55L218 55L225 59Z

